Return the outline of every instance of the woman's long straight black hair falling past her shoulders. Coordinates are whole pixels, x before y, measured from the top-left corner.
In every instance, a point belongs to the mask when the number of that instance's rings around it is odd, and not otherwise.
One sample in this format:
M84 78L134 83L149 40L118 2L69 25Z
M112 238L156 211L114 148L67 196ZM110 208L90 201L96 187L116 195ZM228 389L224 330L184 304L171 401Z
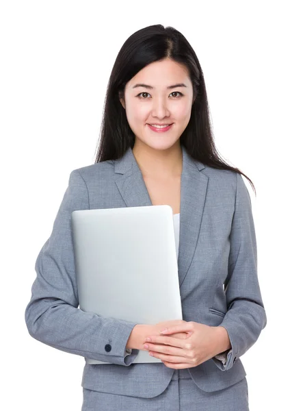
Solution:
M180 144L194 160L215 169L242 174L256 193L251 179L224 162L215 147L205 80L194 49L178 30L161 24L144 27L132 34L117 55L107 86L95 163L116 160L121 158L129 147L133 149L135 135L120 103L120 99L124 99L125 85L148 64L166 58L187 67L193 86L192 113L180 137Z

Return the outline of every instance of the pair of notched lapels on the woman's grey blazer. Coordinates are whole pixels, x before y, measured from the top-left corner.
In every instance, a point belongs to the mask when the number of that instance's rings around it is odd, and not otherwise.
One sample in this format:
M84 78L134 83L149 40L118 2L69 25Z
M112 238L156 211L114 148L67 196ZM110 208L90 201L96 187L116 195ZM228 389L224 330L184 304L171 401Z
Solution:
M189 265L194 257L203 208L207 192L208 177L200 173L204 164L194 160L182 147L183 169L181 174L181 207L179 239L179 285L183 284ZM153 206L141 170L129 148L123 157L115 161L115 173L121 176L116 185L127 207Z

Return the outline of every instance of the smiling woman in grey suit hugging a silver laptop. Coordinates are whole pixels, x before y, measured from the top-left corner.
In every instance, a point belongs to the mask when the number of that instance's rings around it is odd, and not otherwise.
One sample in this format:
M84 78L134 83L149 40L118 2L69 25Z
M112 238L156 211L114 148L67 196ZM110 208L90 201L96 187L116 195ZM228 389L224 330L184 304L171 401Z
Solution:
M108 362L85 363L82 411L248 410L239 357L267 319L241 175L215 149L185 37L162 25L135 32L111 72L96 162L70 173L25 310L37 340ZM183 321L135 324L78 309L71 212L159 204L174 214ZM139 349L161 362L133 364Z

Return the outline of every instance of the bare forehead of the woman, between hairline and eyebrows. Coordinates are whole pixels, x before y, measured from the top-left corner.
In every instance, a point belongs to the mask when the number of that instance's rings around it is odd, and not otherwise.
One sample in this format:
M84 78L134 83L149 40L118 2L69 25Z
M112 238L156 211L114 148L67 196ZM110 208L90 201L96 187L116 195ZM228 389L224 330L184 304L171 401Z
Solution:
M187 67L173 60L166 59L145 66L129 80L127 86L132 88L137 83L144 83L154 88L161 88L181 82L186 86L190 84Z

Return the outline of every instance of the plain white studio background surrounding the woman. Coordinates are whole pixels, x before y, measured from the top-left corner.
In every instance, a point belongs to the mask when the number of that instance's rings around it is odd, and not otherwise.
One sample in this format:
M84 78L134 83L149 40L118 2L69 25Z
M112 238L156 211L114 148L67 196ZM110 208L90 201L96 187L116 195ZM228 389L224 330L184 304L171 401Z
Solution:
M94 163L116 55L159 23L196 51L215 143L256 186L244 179L267 326L241 357L250 411L300 409L300 3L1 1L1 410L81 409L84 358L31 338L25 307L68 176Z

